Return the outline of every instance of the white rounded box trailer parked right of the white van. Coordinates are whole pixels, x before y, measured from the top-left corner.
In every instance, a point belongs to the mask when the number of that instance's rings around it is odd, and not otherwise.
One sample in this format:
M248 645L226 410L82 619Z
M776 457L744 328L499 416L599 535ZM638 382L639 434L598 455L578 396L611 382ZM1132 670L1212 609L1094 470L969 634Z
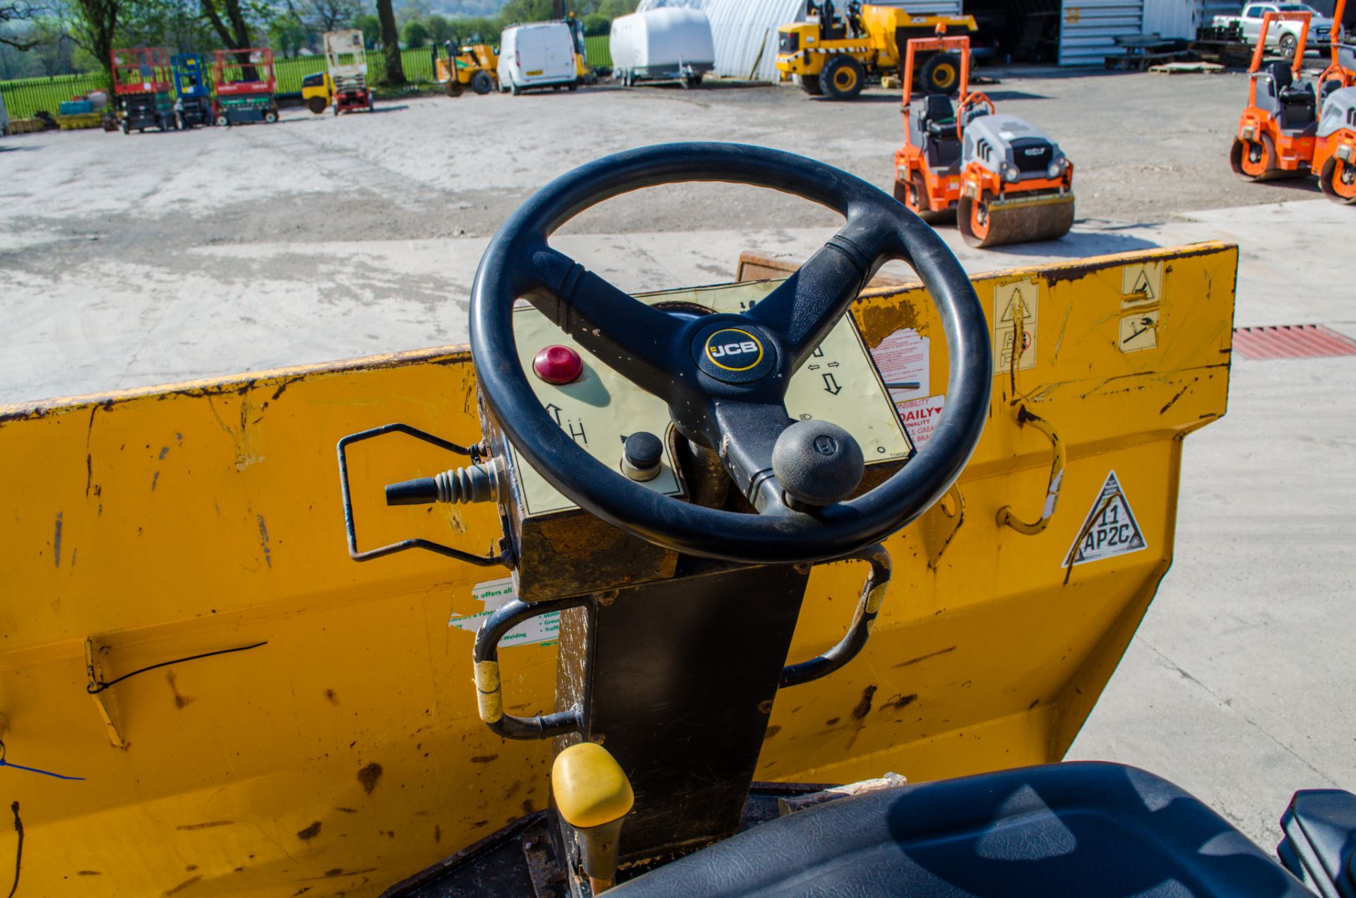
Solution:
M631 85L639 80L681 79L701 84L716 66L711 22L701 9L660 7L612 20L613 77Z

